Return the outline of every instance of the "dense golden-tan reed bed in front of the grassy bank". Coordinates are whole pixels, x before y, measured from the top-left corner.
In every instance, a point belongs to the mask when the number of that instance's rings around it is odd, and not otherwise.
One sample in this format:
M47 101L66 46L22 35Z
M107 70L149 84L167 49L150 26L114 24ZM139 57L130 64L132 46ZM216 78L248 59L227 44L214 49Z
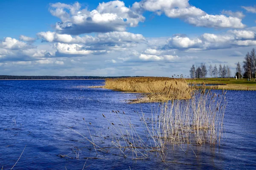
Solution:
M104 87L116 91L144 93L145 95L140 99L141 101L137 102L160 102L191 98L191 89L184 79L168 77L106 79ZM136 100L133 102L136 102Z

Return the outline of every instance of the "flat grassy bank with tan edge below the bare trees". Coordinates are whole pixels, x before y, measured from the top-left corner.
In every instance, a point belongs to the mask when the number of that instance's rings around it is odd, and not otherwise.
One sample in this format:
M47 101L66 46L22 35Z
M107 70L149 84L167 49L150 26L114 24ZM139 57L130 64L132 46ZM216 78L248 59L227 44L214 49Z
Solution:
M248 81L247 79L235 78L205 78L205 79L188 79L188 82L202 84L216 84L215 89L224 90L256 90L255 79Z

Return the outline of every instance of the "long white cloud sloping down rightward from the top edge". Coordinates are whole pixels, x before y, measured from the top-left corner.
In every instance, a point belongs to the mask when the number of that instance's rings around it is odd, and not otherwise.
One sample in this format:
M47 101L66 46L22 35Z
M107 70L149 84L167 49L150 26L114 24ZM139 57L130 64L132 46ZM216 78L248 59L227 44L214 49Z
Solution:
M232 13L225 12L230 17L225 15L207 14L195 6L189 4L189 0L142 0L135 2L132 6L134 11L142 13L143 11L156 12L158 15L164 13L170 18L181 18L187 23L198 27L213 27L213 28L244 28L241 23L243 14L241 12Z

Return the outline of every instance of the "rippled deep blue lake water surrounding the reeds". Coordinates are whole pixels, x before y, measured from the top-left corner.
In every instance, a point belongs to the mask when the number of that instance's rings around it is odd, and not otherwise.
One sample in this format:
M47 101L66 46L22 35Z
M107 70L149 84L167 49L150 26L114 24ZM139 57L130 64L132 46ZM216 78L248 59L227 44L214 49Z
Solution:
M86 122L90 122L102 136L108 136L111 129L102 113L111 121L116 119L112 110L124 111L138 125L134 111L151 114L152 104L128 104L126 100L135 99L137 94L87 88L103 83L0 80L0 168L11 169L26 146L14 169L81 170L86 160L86 169L256 169L256 92L227 92L220 146L194 145L195 153L190 147L183 147L185 153L170 146L166 160L171 162L162 162L132 160L116 153L96 154L86 147L88 141L73 131L88 136Z

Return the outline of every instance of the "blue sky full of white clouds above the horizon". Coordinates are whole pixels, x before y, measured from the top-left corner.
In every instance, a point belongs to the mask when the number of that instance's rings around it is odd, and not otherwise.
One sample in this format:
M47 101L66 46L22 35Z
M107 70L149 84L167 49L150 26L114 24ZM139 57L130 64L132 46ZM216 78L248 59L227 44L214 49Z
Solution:
M235 75L256 47L255 0L2 0L0 16L0 75Z

